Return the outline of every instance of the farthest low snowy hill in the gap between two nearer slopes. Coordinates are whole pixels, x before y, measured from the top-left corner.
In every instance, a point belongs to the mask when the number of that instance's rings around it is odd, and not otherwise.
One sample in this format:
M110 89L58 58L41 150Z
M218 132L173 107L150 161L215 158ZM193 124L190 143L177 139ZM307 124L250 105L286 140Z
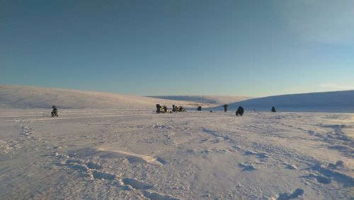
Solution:
M208 103L214 105L222 105L224 103L239 102L241 100L249 100L250 97L240 96L221 96L221 95L170 95L170 96L150 96L151 98L161 98L166 100L183 100L190 102Z

